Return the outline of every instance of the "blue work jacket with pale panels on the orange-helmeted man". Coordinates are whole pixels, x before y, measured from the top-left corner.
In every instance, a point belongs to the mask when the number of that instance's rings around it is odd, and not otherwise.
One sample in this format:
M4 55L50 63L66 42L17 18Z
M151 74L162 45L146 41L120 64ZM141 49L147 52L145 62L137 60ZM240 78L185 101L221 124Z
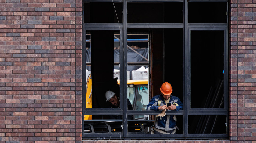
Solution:
M158 105L158 101L160 105ZM183 110L183 103L180 101L180 99L176 96L170 96L170 101L173 101L176 105L175 111L178 110ZM164 98L162 94L154 96L149 104L147 105L147 110L154 110L154 111L159 111L158 107L166 105ZM157 121L155 122L155 128L170 131L173 129L176 129L176 117L174 115L167 115L164 117L158 117Z

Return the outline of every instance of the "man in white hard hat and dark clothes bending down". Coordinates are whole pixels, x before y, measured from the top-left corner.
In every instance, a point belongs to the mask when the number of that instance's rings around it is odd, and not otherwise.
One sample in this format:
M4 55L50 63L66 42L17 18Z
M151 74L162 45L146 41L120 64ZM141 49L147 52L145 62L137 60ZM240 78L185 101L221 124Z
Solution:
M120 99L115 95L115 93L113 91L107 91L105 93L105 98L106 98L106 102L111 103L111 108L120 108ZM129 101L129 99L127 99L127 110L133 110L132 108L132 104ZM110 119L122 119L122 115L110 115ZM127 116L128 120L132 120L133 117L132 115L128 115Z

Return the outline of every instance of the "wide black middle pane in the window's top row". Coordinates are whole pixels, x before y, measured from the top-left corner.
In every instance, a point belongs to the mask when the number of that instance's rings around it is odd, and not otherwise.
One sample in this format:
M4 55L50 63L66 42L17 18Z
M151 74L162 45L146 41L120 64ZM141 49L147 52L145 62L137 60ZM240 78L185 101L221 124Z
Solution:
M128 23L183 23L183 2L132 3Z

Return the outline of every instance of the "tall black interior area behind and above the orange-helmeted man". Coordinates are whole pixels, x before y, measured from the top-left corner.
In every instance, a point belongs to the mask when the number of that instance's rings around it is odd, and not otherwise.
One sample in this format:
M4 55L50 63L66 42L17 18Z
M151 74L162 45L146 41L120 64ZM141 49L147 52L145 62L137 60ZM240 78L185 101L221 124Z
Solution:
M172 95L183 102L183 29L164 29L164 82L172 86Z

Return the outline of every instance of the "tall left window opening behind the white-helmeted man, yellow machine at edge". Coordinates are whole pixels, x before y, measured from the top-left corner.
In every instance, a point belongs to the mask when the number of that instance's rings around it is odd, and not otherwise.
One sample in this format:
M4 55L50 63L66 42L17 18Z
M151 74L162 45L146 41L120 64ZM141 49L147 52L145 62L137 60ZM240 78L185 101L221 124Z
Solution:
M118 91L118 89L115 89L116 87L113 88L113 86L115 86L113 81L114 58L119 57L119 55L113 54L115 33L119 32L87 31L86 34L86 88L87 94L90 94L90 96L87 98L90 98L90 100L92 100L91 108L107 107L104 96L101 95L101 92L99 90L94 89L95 87L98 87L98 85L101 85L100 87L102 90L112 88L113 90ZM110 35L112 35L112 38L110 38ZM115 46L119 45L115 43ZM117 84L117 81L116 86L119 86ZM116 94L119 95L119 92L117 92Z

